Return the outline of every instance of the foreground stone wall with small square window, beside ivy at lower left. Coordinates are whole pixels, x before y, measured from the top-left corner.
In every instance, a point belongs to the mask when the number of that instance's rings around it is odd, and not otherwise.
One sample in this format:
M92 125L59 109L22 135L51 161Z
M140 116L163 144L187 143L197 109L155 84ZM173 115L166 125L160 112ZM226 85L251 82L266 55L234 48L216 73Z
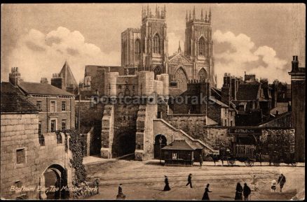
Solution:
M62 143L58 144L55 133L44 134L45 145L41 146L38 128L38 114L1 114L1 197L16 199L27 194L23 197L39 199L36 188L44 185L43 173L53 164L67 168L68 186L71 187L74 171L69 165L71 152L65 152L64 135ZM25 150L25 162L17 164L17 150L20 149ZM34 187L34 191L10 191L17 183Z

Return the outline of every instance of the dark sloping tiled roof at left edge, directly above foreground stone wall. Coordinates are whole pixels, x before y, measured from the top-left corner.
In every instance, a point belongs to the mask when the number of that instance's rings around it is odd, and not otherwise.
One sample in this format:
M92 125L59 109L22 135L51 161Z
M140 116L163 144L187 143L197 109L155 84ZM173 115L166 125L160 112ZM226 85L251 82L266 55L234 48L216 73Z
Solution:
M9 82L1 82L1 113L38 113L27 97Z

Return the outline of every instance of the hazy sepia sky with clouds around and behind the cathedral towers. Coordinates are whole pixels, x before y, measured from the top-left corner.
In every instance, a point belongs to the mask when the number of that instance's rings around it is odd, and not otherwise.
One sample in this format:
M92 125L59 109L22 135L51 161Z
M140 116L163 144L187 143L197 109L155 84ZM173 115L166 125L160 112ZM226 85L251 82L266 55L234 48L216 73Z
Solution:
M65 60L79 82L86 65L121 65L121 32L141 26L147 3L1 4L1 81L18 66L25 81L59 73ZM212 10L217 87L224 73L289 83L292 55L305 66L303 3L149 3L166 6L168 53L184 46L186 10Z

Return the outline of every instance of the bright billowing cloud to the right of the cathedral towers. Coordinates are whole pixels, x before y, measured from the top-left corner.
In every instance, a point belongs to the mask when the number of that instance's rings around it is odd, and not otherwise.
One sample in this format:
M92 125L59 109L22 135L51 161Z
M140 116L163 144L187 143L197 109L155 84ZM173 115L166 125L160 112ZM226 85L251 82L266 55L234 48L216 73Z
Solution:
M221 87L224 73L243 76L244 72L254 73L257 78L268 78L273 82L276 78L290 82L287 61L277 57L273 48L266 45L257 47L245 34L237 36L231 31L222 33L217 30L213 34L215 73L217 83Z

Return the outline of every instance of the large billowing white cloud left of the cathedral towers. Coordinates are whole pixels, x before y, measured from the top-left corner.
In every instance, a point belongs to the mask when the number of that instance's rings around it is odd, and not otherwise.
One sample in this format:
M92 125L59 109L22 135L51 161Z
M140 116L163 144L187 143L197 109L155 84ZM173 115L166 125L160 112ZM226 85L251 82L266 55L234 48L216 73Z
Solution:
M77 81L83 79L84 66L121 64L121 53L106 54L86 39L79 31L65 27L43 34L31 29L19 39L18 47L8 55L8 67L19 66L25 81L39 82L41 77L49 80L53 73L59 73L65 59Z

